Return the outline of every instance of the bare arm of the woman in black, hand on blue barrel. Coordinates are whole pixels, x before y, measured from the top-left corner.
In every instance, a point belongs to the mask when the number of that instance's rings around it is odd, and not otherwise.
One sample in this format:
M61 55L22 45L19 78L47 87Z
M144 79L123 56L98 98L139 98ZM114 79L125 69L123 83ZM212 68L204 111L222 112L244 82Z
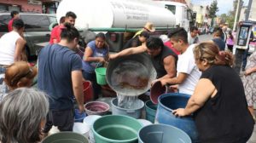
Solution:
M190 115L197 111L205 102L217 93L217 89L207 78L201 78L195 87L194 94L189 98L185 108L173 110L173 114L179 117Z

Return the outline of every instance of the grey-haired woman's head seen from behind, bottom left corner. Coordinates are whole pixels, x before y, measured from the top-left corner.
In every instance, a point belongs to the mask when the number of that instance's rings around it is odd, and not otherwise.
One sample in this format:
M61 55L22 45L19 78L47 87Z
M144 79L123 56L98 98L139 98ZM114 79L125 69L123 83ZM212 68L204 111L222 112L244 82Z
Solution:
M0 142L39 142L48 109L43 92L26 88L10 92L0 103Z

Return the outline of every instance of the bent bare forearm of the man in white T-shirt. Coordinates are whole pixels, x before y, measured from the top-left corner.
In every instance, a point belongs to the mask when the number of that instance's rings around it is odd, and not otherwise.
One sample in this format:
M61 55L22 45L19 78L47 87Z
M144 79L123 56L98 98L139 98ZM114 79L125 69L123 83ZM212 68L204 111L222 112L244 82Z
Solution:
M160 82L162 83L162 85L166 85L167 83L169 83L169 84L181 84L185 81L185 79L187 77L188 77L187 73L179 72L177 77L161 79Z

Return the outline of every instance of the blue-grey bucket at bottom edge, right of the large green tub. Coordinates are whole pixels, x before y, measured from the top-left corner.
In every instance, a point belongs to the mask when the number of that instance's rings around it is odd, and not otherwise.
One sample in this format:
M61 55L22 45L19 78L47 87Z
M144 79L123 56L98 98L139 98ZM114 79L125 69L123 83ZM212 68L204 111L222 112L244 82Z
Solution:
M139 130L139 143L191 143L189 135L181 129L166 124L150 124Z

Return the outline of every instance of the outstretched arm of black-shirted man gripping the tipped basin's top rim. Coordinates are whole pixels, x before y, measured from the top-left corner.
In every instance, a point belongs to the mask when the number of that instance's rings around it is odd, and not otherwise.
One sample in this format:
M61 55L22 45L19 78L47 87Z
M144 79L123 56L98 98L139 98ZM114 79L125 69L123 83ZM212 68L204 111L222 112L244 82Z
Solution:
M117 54L109 54L109 59L115 59L121 56L125 56L125 55L131 55L131 54L139 54L139 53L143 53L147 51L147 47L144 45L138 46L138 47L132 47L129 49L124 49L122 51L120 51Z

